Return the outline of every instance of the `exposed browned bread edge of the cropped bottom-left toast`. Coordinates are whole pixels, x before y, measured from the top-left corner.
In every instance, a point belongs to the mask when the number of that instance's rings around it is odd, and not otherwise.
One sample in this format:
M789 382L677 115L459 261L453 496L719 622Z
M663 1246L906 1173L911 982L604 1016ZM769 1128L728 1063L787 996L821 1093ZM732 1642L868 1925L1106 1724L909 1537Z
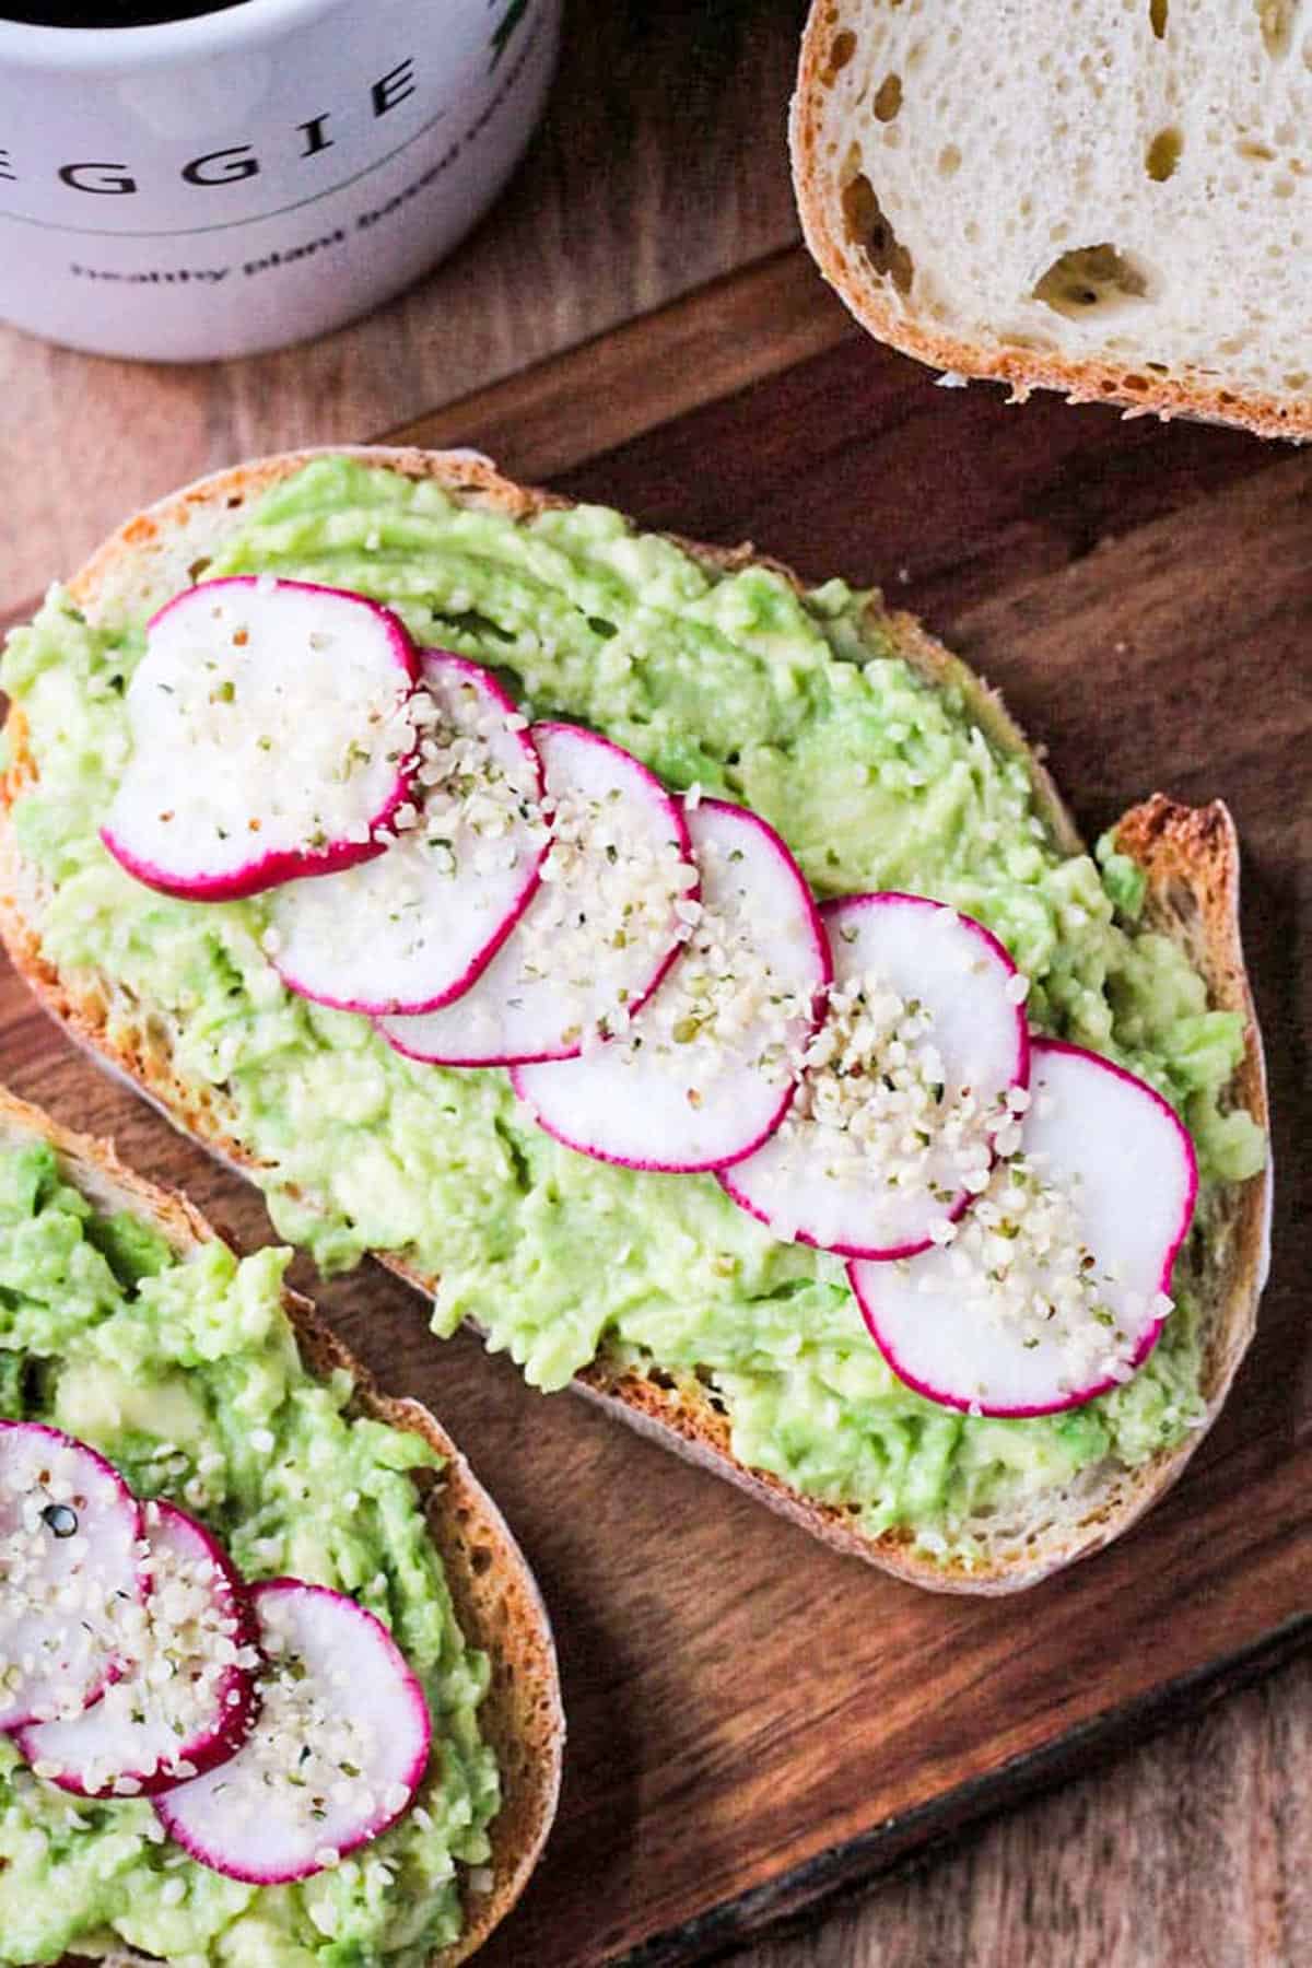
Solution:
M65 1181L96 1208L130 1210L181 1256L218 1236L187 1197L126 1169L110 1141L71 1134L41 1108L16 1100L0 1086L0 1141L14 1147L33 1138L49 1141ZM328 1332L309 1299L285 1291L283 1307L305 1366L319 1376L338 1368L350 1374L356 1389L350 1413L409 1429L445 1460L443 1474L425 1482L425 1511L460 1631L492 1663L488 1694L478 1714L496 1752L504 1791L502 1809L488 1832L490 1891L466 1893L460 1940L431 1962L431 1968L456 1968L519 1899L555 1818L565 1714L551 1620L506 1519L443 1425L419 1401L380 1393L372 1376ZM116 1964L148 1960L126 1948L104 1958Z

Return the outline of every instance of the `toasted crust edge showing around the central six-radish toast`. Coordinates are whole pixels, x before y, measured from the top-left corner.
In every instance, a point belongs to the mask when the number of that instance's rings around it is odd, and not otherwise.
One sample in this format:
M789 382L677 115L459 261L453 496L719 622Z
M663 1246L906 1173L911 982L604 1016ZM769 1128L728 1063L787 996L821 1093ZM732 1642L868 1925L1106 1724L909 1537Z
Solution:
M531 518L535 512L570 504L555 494L525 490L502 478L496 466L468 451L425 453L338 445L283 453L201 478L138 514L90 557L73 579L71 592L81 606L94 614L96 598L104 588L114 590L124 565L136 571L142 561L165 553L175 555L177 535L187 535L193 527L203 529L210 518L214 520L210 537L220 537L226 525L236 523L234 510L246 506L269 484L299 470L313 457L323 455L352 455L364 462L388 464L413 478L437 478L447 492L472 504L490 506L509 518ZM201 531L197 543L201 543ZM679 545L720 571L759 559L747 549L726 553L686 539L679 539ZM779 563L767 565L795 581L791 571ZM938 685L950 675L966 689L974 714L989 734L1005 750L1027 758L1039 801L1056 836L1068 848L1078 846L1078 834L1052 781L1025 746L1025 738L1005 712L1001 699L913 618L889 616L887 622L901 638L903 653L926 681ZM110 1037L108 1002L94 976L79 986L77 980L59 976L43 960L39 937L22 909L24 870L14 832L12 827L4 825L12 801L31 777L31 760L22 742L22 714L10 712L10 736L14 764L0 787L0 937L12 962L45 1010L98 1065L108 1067L134 1090L146 1094L171 1126L199 1139L238 1173L250 1173L254 1161L224 1130L224 1116L218 1112L216 1100L209 1094L199 1100L193 1090L183 1086L173 1076L167 1051L161 1045L138 1043L132 1049ZM1117 823L1117 844L1145 868L1149 921L1176 935L1178 941L1186 941L1220 1008L1243 1014L1245 1059L1235 1076L1233 1092L1237 1104L1249 1108L1269 1138L1261 1037L1239 941L1237 838L1227 811L1220 803L1204 809L1178 807L1159 793ZM146 1037L142 1035L142 1041ZM1064 1565L1103 1549L1123 1529L1129 1529L1170 1488L1208 1433L1253 1334L1257 1295L1267 1261L1269 1193L1269 1171L1239 1185L1223 1224L1225 1263L1216 1279L1216 1305L1208 1307L1202 1376L1206 1419L1202 1425L1178 1448L1159 1454L1139 1470L1115 1476L1074 1527L1066 1527L1046 1541L1039 1535L1033 1541L1033 1551L1023 1557L1011 1553L991 1568L944 1567L928 1553L915 1551L899 1533L869 1539L854 1527L848 1511L808 1502L777 1478L745 1468L728 1446L724 1417L710 1405L700 1384L690 1378L667 1389L637 1374L608 1372L604 1364L594 1362L574 1378L574 1389L639 1433L659 1439L685 1458L734 1482L822 1543L893 1572L909 1584L938 1592L1017 1592L1039 1584ZM401 1256L376 1256L407 1285L433 1295L437 1279L419 1273Z

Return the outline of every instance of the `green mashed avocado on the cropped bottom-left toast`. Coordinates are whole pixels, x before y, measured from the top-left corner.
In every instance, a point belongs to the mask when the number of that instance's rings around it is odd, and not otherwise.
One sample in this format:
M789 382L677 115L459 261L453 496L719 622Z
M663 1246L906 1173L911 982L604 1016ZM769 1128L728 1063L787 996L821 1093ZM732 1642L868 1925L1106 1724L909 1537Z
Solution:
M197 1866L148 1803L39 1783L0 1736L0 1962L126 1942L179 1968L421 1968L460 1935L456 1860L486 1862L498 1771L478 1734L488 1661L460 1635L409 1470L417 1435L348 1419L281 1309L289 1252L179 1260L96 1214L45 1143L0 1153L0 1415L92 1443L140 1496L224 1539L248 1578L336 1586L386 1620L421 1677L433 1761L393 1830L299 1885Z

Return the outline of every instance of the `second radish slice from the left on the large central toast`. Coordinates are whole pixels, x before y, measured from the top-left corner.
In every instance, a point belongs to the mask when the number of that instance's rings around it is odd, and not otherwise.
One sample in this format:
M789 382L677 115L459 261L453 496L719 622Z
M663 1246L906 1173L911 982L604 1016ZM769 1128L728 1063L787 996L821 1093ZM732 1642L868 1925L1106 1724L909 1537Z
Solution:
M445 649L421 663L415 801L393 846L269 897L264 947L283 984L340 1012L431 1012L466 992L547 854L527 718L478 663Z

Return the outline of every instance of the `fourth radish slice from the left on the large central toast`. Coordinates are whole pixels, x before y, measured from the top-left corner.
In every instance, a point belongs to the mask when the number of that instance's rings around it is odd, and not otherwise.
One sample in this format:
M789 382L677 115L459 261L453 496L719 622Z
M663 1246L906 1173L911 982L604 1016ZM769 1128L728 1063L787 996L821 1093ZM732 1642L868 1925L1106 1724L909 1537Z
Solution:
M631 1169L722 1169L787 1112L830 978L828 937L787 846L744 807L688 809L702 915L641 1012L580 1059L515 1067L541 1128Z

